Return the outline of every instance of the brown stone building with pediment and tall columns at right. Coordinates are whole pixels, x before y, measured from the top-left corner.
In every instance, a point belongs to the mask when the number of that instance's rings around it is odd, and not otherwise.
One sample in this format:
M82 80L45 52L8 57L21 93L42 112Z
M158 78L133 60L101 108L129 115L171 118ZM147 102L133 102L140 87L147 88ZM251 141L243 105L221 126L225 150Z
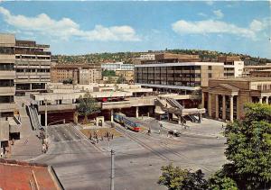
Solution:
M211 118L233 121L245 116L247 103L271 104L271 77L210 79L201 104Z

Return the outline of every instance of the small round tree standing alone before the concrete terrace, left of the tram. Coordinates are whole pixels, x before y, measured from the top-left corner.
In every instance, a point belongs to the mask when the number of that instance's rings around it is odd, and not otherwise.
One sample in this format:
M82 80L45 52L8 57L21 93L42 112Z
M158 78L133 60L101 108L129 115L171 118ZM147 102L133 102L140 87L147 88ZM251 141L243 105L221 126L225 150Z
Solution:
M85 122L88 121L89 114L98 113L100 111L98 102L89 93L86 93L84 96L79 96L79 104L76 106L76 109L80 115L85 116Z

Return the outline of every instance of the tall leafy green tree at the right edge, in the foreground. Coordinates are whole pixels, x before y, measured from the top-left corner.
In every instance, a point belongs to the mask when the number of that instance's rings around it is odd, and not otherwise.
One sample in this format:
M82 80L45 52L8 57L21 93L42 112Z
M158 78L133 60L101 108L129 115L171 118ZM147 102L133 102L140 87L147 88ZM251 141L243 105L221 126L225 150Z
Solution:
M271 105L247 104L242 121L225 129L229 164L225 176L234 179L240 189L271 187Z

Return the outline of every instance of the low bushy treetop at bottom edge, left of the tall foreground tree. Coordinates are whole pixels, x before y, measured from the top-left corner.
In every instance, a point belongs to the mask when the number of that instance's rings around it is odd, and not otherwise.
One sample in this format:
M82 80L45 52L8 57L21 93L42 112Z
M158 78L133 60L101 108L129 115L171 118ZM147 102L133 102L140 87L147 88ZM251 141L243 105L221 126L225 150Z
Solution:
M190 172L187 169L173 167L173 164L162 167L162 176L158 184L165 185L169 190L201 190L207 189L207 181L203 178L201 169Z

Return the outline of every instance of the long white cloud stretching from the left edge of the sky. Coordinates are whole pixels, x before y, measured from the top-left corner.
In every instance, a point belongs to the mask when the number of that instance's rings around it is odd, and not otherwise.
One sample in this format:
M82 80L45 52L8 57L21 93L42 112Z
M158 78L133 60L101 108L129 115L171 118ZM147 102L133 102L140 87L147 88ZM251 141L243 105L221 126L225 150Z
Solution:
M53 20L47 14L39 14L36 17L13 15L7 9L0 6L0 14L4 16L5 23L14 26L24 32L40 32L68 40L71 36L87 39L89 41L140 41L135 30L128 25L105 27L96 25L93 30L80 30L79 24L70 18Z

